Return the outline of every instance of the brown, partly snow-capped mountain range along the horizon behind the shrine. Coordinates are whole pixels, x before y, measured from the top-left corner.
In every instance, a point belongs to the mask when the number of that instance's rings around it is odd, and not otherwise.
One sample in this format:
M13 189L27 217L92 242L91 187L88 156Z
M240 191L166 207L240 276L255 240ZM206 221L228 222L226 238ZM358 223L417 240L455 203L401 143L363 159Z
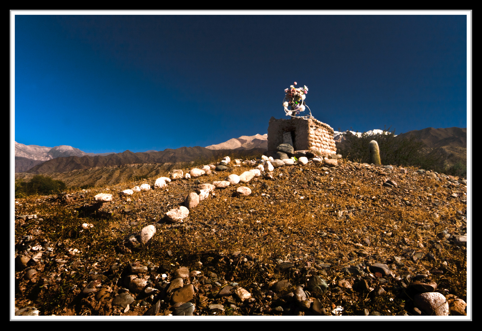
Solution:
M376 134L381 130L371 130ZM361 135L359 132L335 132L335 142L343 144L346 134ZM445 165L461 161L467 164L467 129L466 128L426 128L399 135L399 138L414 136L423 142L426 153L439 153ZM34 174L49 173L49 176L64 181L67 185L94 185L118 183L126 176L156 175L165 166L176 162L192 162L226 155L242 156L262 154L268 149L268 135L255 134L232 138L224 143L207 147L181 147L163 151L133 153L85 153L72 146L37 146L15 142L15 179L29 179ZM165 166L163 166L164 164ZM129 165L128 167L126 167ZM108 169L107 169L107 168ZM106 169L103 169L106 168ZM112 172L112 169L115 169ZM112 172L106 174L105 172ZM85 172L85 173L84 173ZM95 172L95 180L94 175ZM112 177L112 178L111 178ZM107 182L106 182L107 181Z

